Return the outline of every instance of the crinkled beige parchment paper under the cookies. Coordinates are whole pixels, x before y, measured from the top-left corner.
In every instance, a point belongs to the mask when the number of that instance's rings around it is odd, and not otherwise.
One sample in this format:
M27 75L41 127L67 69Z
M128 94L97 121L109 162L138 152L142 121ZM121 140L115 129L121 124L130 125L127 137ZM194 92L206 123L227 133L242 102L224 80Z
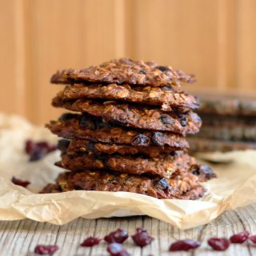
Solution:
M188 229L210 222L224 210L256 202L256 151L253 150L201 154L201 158L214 162L220 159L222 164L212 165L218 178L206 182L208 193L197 201L159 200L127 192L36 194L63 170L54 166L59 159L57 151L38 162L28 162L23 150L27 138L57 142L57 138L42 127L32 126L17 116L0 114L0 220L30 218L63 224L80 216L101 218L146 214ZM28 190L12 184L12 176L29 180Z

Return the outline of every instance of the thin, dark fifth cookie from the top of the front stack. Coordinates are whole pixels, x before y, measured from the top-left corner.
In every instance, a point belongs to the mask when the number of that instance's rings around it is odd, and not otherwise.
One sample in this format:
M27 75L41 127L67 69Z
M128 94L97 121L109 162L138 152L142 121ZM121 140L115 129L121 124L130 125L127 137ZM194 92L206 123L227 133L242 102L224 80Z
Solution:
M58 142L58 148L64 153L66 151L73 151L92 154L144 154L150 158L155 158L159 154L170 154L178 150L170 146L131 146L96 143L88 140L60 140Z

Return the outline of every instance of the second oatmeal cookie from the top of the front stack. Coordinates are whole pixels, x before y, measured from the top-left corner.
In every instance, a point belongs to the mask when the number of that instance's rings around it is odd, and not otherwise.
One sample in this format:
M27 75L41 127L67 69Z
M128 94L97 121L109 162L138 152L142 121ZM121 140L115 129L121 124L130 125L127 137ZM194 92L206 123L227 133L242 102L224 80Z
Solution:
M74 84L66 86L58 93L63 100L79 98L102 98L122 102L138 102L161 106L162 110L170 111L171 107L183 106L198 108L198 100L190 94L179 92L170 87L129 86L127 84Z

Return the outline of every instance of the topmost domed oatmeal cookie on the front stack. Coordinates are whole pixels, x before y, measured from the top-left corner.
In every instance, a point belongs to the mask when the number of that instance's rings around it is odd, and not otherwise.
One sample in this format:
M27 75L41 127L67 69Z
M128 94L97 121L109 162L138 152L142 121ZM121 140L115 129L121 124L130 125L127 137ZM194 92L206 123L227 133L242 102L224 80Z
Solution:
M194 82L194 76L156 62L133 61L130 58L114 59L99 66L82 70L58 70L50 79L52 83L100 82L141 86L180 86Z

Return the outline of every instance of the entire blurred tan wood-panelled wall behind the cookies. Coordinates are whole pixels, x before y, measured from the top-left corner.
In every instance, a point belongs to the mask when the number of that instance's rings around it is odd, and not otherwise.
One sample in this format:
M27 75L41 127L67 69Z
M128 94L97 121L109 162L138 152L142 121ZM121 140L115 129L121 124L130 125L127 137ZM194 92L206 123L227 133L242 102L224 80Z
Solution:
M42 124L58 69L112 58L196 74L194 94L256 95L255 0L0 0L0 111Z

